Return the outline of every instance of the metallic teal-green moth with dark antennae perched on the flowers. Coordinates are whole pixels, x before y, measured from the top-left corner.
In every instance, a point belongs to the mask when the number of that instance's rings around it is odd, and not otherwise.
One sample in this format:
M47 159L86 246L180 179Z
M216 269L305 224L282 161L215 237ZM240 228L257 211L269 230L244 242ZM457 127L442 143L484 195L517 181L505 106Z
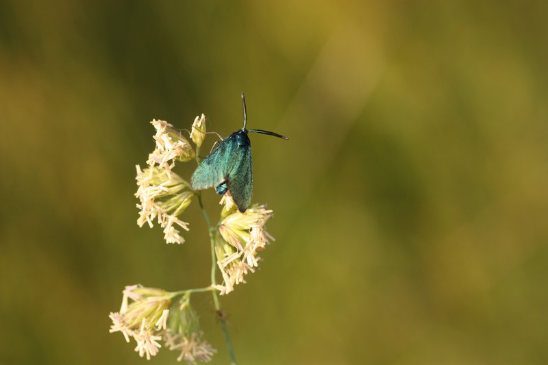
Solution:
M192 190L204 190L215 187L219 195L229 191L240 212L245 212L251 204L253 195L253 171L251 167L251 141L248 133L268 134L288 140L286 136L264 131L262 129L247 129L247 108L245 95L242 92L244 108L244 127L221 141L190 178Z

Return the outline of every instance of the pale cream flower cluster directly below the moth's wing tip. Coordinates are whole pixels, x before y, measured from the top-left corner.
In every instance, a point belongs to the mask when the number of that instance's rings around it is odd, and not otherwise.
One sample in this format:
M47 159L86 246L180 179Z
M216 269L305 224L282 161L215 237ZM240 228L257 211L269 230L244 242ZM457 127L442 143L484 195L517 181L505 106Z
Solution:
M223 295L232 292L235 285L245 283L245 275L255 272L260 261L258 251L265 249L269 238L273 238L264 230L272 216L266 205L253 205L240 213L228 193L221 203L225 203L225 217L219 225L220 237L216 237L215 249L223 284L214 287Z

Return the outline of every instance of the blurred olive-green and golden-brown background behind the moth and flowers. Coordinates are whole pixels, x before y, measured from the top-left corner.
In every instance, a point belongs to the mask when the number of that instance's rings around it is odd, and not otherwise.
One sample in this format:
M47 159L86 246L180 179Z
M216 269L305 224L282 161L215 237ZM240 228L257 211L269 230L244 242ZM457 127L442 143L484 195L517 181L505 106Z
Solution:
M123 287L210 270L196 203L183 245L136 225L149 121L227 136L246 92L290 140L251 136L277 240L223 297L240 364L548 364L546 4L2 1L0 363L146 362Z

